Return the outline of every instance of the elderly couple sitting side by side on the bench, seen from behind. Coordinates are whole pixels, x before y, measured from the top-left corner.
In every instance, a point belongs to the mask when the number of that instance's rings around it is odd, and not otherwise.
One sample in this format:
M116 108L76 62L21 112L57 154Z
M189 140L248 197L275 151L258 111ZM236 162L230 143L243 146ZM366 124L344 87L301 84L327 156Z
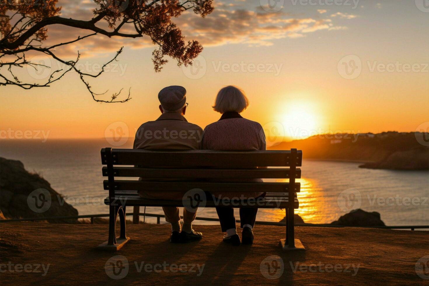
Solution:
M202 130L196 124L187 122L186 90L181 86L163 88L159 94L160 117L155 121L143 123L136 133L134 149L147 150L265 150L265 135L262 126L254 121L243 118L249 101L244 92L237 87L227 86L219 90L213 109L222 114L221 118ZM145 136L145 132L154 136ZM160 134L175 134L177 136L161 136ZM147 133L148 134L148 133ZM155 136L155 134L158 134ZM184 135L184 136L183 136ZM262 181L261 179L257 179ZM242 180L245 181L245 180ZM182 200L184 194L177 192L149 193L139 191L145 199ZM216 193L214 196L242 196L242 193ZM264 193L246 193L247 198L263 196ZM170 241L172 243L188 242L202 238L201 232L192 229L196 212L183 208L183 224L180 223L179 208L163 207L165 219L171 224ZM196 210L195 210L196 211ZM242 240L237 234L234 209L216 208L222 232L226 232L223 241L233 245L252 244L253 227L256 220L257 208L240 208Z

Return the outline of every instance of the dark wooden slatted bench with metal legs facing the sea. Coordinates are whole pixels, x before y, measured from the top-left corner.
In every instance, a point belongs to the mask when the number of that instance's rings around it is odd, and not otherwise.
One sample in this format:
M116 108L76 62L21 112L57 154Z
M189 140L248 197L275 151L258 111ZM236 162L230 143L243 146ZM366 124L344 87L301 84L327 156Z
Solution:
M103 148L101 162L106 165L103 167L103 176L108 180L105 180L103 185L104 190L109 190L109 197L105 199L105 204L109 205L110 216L109 239L98 248L116 251L129 241L130 238L125 232L127 206L188 206L186 199L182 201L142 199L137 193L139 190L186 193L196 189L205 193L219 190L244 194L266 192L266 196L258 199L257 204L242 200L234 207L285 209L286 239L280 240L281 247L283 250L304 249L301 242L294 238L293 221L294 209L299 206L296 193L300 190L300 184L296 183L295 179L301 178L301 170L296 167L301 166L302 151L296 149L290 151L148 151ZM257 169L256 166L275 168ZM118 177L133 178L118 180ZM168 180L156 181L157 178L168 178ZM219 178L223 181L211 180ZM289 179L289 182L225 182L229 178L276 178ZM205 208L223 206L207 197L198 202ZM120 235L117 238L115 226L118 215Z

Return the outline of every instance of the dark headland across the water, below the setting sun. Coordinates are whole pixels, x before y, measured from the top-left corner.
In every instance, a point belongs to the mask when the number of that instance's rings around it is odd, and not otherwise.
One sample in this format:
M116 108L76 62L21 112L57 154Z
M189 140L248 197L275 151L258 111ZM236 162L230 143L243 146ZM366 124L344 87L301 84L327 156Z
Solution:
M391 131L379 134L320 134L302 140L282 142L269 149L297 148L302 150L305 159L366 162L361 168L427 170L429 148L425 145L426 141L417 140L419 134L422 133ZM428 136L425 133L424 138Z

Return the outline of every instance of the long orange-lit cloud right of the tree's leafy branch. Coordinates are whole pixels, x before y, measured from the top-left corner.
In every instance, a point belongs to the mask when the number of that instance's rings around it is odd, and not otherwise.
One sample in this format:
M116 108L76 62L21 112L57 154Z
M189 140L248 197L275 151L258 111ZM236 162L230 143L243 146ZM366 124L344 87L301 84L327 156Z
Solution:
M347 18L353 18L353 15ZM305 36L303 33L318 30L345 29L342 26L329 26L332 19L298 18L282 11L269 13L260 7L255 11L224 7L215 9L206 18L188 13L175 22L187 38L196 39L203 46L235 43L272 45L275 39L299 38Z

